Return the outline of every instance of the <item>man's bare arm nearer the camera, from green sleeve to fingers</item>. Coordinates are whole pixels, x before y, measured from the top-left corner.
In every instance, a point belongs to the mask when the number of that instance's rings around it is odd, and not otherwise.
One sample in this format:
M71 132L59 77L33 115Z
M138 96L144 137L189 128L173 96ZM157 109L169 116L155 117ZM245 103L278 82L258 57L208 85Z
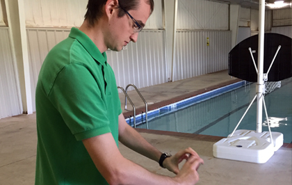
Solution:
M176 177L167 177L125 159L111 133L85 139L83 144L108 184L195 184L199 180L196 169L203 161L197 156L190 156Z

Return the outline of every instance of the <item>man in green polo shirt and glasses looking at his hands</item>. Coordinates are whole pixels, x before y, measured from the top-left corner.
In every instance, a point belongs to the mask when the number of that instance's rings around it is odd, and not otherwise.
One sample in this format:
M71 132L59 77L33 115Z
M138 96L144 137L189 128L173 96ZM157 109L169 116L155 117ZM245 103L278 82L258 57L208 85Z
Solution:
M187 148L159 152L124 120L106 50L136 42L153 0L89 0L85 21L51 49L36 88L35 184L195 184L204 163ZM135 17L135 18L133 18ZM118 141L175 172L156 175L125 159ZM178 163L187 159L179 170Z

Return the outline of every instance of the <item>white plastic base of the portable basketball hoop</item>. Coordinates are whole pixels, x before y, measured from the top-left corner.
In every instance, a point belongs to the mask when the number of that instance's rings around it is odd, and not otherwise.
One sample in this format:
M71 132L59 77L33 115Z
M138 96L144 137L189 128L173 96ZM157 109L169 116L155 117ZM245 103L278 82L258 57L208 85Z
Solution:
M230 136L230 135L229 135ZM266 163L283 145L283 134L272 131L275 147L270 143L270 133L236 130L231 138L222 138L213 145L213 156L222 159Z

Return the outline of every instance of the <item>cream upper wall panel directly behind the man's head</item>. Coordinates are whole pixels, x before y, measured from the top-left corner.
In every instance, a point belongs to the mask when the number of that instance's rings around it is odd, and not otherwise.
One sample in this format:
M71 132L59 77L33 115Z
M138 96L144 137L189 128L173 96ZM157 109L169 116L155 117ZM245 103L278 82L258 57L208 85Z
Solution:
M88 0L24 0L26 26L81 26ZM154 0L155 8L145 29L162 29L161 0Z

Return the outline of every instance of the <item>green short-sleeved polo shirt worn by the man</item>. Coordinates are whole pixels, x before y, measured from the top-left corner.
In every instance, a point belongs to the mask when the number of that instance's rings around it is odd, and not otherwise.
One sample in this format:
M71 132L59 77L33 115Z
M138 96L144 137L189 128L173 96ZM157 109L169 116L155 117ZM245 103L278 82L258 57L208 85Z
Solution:
M122 110L106 53L79 29L49 51L35 104L35 184L107 184L82 140L111 132L117 143Z

